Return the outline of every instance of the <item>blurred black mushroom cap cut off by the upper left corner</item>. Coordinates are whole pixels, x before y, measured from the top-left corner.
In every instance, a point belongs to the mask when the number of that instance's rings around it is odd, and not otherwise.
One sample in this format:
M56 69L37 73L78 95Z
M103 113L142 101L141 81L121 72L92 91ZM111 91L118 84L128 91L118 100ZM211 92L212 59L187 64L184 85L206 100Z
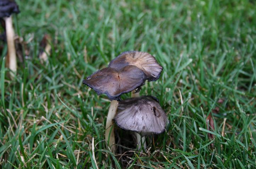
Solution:
M12 13L19 13L19 7L16 2L0 0L0 18L10 17Z

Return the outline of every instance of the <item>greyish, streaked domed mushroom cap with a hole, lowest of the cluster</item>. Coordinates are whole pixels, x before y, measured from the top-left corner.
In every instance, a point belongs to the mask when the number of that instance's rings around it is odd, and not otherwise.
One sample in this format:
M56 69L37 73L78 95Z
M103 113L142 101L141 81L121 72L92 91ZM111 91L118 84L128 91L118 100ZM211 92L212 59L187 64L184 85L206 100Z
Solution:
M167 117L157 99L152 96L131 98L118 103L115 123L142 136L164 132Z

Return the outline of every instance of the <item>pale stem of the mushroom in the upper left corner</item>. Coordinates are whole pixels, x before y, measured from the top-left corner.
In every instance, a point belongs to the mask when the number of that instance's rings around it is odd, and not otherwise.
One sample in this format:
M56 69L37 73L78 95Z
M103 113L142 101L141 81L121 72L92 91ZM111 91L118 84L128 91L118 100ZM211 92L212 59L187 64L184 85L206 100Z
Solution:
M16 61L16 51L15 51L15 43L14 43L15 32L12 26L12 16L5 18L5 27L6 27L7 46L8 46L7 64L9 69L12 71L11 76L14 77L17 71L17 61Z

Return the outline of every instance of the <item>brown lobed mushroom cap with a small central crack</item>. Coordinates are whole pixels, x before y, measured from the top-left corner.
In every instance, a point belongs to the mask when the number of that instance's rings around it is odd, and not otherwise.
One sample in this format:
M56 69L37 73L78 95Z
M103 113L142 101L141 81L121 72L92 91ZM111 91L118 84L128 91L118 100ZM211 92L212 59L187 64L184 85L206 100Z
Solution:
M140 88L146 80L143 71L136 66L127 65L123 69L104 68L83 80L97 94L106 94L110 100L119 100L119 96Z

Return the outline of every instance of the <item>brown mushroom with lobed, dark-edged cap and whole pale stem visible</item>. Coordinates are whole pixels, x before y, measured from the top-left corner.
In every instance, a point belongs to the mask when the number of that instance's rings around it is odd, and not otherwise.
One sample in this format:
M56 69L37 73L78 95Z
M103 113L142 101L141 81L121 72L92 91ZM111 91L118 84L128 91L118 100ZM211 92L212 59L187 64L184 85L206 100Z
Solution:
M115 151L115 136L112 119L118 107L118 101L116 100L120 100L119 97L121 94L140 88L145 80L146 76L143 71L133 65L127 65L119 71L113 68L104 68L87 77L86 80L83 80L83 84L91 87L98 95L106 94L108 98L112 100L107 115L105 131L105 139L109 140L108 143L111 146L112 152Z

